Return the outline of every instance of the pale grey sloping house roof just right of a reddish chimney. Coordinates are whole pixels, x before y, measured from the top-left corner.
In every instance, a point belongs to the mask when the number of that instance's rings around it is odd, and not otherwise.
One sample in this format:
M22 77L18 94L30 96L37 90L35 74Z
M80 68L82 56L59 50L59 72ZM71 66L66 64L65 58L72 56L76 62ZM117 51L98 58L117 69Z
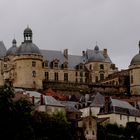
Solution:
M44 96L44 99L45 99L45 105L65 107L63 104L61 104L52 96Z

